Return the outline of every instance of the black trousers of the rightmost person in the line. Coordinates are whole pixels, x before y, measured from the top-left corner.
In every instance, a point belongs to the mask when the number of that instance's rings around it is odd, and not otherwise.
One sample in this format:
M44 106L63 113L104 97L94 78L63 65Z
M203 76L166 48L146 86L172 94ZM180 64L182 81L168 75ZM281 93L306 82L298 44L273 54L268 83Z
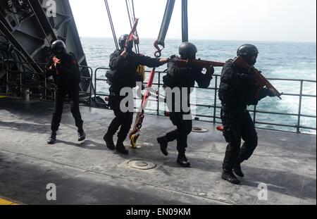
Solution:
M221 109L226 142L228 142L223 161L224 170L232 170L237 164L247 161L258 145L258 136L251 115L248 111L232 111L230 108ZM241 139L244 144L241 146Z

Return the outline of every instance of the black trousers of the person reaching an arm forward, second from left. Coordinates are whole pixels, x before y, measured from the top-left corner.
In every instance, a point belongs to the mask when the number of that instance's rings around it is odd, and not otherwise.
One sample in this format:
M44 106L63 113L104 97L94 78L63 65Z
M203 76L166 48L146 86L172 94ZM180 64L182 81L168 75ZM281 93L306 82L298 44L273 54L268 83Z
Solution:
M109 97L109 106L115 114L115 118L112 120L111 124L108 127L108 132L106 135L108 137L113 137L114 134L118 131L118 141L123 143L126 137L129 134L130 128L133 122L133 112L123 113L120 110L120 101L125 98L124 96L110 96Z

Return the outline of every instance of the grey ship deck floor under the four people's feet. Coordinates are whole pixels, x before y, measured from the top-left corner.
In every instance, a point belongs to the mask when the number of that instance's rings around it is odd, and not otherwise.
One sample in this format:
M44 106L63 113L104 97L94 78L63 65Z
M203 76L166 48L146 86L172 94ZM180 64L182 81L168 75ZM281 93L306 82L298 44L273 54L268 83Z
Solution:
M161 154L156 137L172 130L168 118L147 115L140 149L121 156L106 149L102 137L112 111L81 107L87 139L77 142L75 122L65 106L58 142L46 144L53 104L0 99L0 196L23 204L316 204L316 136L258 130L259 147L242 168L241 185L221 180L225 142L211 123L194 122L208 132L189 136L187 157L192 168ZM126 142L128 145L129 142ZM132 160L156 168L128 168ZM46 185L57 187L47 201ZM259 200L259 184L268 199Z

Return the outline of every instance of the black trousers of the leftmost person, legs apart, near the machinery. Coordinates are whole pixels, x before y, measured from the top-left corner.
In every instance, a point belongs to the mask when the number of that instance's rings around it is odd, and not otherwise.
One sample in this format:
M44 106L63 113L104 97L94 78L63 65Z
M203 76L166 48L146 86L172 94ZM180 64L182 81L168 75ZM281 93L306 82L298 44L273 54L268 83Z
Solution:
M61 117L63 114L63 104L67 94L70 99L70 111L73 113L73 117L75 118L75 124L78 130L82 130L82 124L84 122L82 121L82 115L80 115L79 87L71 87L69 89L57 88L55 91L53 119L51 120L52 132L58 131L58 127L61 123Z

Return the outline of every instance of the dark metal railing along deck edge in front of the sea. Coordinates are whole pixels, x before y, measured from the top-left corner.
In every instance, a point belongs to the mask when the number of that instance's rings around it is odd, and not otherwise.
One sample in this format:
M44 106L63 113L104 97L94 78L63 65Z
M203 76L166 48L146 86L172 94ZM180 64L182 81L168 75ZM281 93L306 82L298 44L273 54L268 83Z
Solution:
M98 87L99 87L99 82L106 82L106 77L102 76L100 77L99 75L105 75L106 70L109 70L108 68L97 68L94 71L94 95L96 96L108 96L108 93L105 92L99 92ZM102 71L102 73L101 73ZM149 71L147 71L149 73ZM163 75L166 75L166 73L163 73L162 71L157 71L156 72L157 77L156 77L156 82L153 83L153 86L156 87L163 87L163 82L162 82L162 77ZM207 88L206 90L213 90L211 94L213 95L213 103L212 104L196 104L192 106L199 106L199 107L206 107L206 108L211 108L212 114L213 115L196 115L195 120L204 120L204 118L209 118L211 120L206 120L206 122L211 122L214 124L220 124L220 113L217 112L219 111L221 106L220 106L220 101L218 99L218 89L219 89L219 83L220 83L220 75L216 74L213 77L213 80L215 80L213 86ZM287 132L305 132L305 131L316 131L316 126L315 127L310 127L306 125L302 125L301 121L302 118L311 118L316 120L316 111L314 111L314 115L307 115L302 113L303 111L303 98L311 98L311 99L316 99L316 94L304 94L304 85L305 83L314 83L316 85L316 80L296 80L296 79L286 79L286 78L268 78L270 81L280 81L280 82L298 82L300 85L299 93L298 94L291 94L291 93L284 93L283 96L297 96L299 97L299 102L298 102L298 113L281 113L281 112L276 112L276 111L261 111L257 108L257 106L254 106L254 108L249 108L250 113L253 114L253 120L255 125L258 125L257 127L263 128L266 130L278 130L278 131L287 131ZM147 83L144 83L144 85L147 85ZM316 87L316 86L315 86ZM196 87L199 88L199 87ZM199 88L200 89L200 88ZM151 101L154 101L153 99ZM156 96L157 102L157 108L147 108L147 111L151 114L156 113L156 115L165 115L163 111L160 110L161 106L160 104L161 101L159 101L159 95ZM100 103L102 104L102 103ZM268 114L268 115L286 115L290 117L297 117L297 123L290 125L290 124L278 124L278 123L268 123L263 120L259 120L259 117L257 115L259 114ZM263 125L266 126L273 126L273 128L270 127L263 127ZM274 128L277 127L277 128ZM283 128L284 127L284 128ZM292 129L295 131L291 130L285 130L287 129Z

